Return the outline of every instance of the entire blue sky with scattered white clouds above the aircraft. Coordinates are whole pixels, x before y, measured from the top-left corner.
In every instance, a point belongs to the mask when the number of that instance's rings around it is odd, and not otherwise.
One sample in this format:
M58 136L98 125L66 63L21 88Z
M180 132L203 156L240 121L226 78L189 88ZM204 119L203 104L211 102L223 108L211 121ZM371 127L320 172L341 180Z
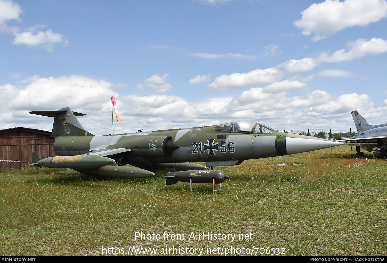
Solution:
M386 0L0 0L0 129L253 120L282 131L387 122Z

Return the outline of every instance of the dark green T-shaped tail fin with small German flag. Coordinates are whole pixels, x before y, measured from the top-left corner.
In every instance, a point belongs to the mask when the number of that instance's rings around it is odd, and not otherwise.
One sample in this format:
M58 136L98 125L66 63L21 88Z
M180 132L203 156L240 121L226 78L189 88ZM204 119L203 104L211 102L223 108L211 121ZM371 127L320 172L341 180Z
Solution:
M79 123L75 116L83 116L86 114L79 112L72 112L70 108L63 108L60 110L35 110L29 112L47 117L54 117L54 124L52 127L51 137L58 136L94 136Z

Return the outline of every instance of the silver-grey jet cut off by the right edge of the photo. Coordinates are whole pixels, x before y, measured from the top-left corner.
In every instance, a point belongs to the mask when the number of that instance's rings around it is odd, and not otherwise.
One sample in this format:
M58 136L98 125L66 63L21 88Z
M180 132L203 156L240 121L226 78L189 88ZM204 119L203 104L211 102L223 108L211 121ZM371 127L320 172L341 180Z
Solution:
M351 138L337 139L336 141L352 142L348 144L356 146L356 157L364 157L360 147L369 152L373 151L376 156L387 157L387 123L372 126L361 117L357 110L351 114L358 133ZM373 148L380 149L374 150Z

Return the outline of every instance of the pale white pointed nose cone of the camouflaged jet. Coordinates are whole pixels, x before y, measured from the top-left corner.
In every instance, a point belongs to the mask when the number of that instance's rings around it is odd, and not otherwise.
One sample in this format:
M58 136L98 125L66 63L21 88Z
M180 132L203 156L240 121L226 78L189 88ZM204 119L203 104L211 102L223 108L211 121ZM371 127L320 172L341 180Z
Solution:
M319 149L330 148L342 145L341 142L335 142L325 139L309 138L293 138L286 137L286 151L288 154L305 153Z

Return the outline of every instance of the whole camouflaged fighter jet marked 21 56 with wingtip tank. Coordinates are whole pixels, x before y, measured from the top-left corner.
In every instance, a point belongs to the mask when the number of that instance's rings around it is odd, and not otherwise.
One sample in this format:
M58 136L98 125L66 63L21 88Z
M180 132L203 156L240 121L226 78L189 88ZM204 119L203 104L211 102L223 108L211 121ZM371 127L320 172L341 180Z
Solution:
M70 108L32 111L54 117L52 137L59 156L40 160L38 167L70 168L98 176L146 177L158 168L199 170L239 165L257 159L303 153L342 145L341 142L278 132L252 121L215 126L95 136L78 121ZM205 162L206 166L192 162ZM132 166L127 166L132 165Z

